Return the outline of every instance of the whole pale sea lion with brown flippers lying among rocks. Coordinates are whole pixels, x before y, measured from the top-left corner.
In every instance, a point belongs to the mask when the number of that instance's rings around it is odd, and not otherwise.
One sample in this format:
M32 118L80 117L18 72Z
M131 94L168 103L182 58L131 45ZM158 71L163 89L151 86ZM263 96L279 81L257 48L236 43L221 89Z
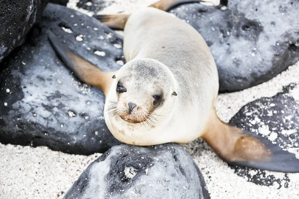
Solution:
M192 26L153 7L125 17L125 23L119 23L117 15L106 17L110 27L124 28L127 63L115 72L101 71L49 34L54 50L74 75L103 91L105 121L118 140L146 146L201 137L230 164L299 172L294 154L218 118L217 67Z

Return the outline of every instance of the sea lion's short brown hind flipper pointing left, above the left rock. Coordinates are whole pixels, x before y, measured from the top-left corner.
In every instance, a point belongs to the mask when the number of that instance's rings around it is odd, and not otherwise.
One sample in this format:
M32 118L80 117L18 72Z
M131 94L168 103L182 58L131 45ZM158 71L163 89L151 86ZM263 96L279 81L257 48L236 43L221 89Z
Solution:
M124 30L130 14L107 14L94 15L102 23L114 30Z

